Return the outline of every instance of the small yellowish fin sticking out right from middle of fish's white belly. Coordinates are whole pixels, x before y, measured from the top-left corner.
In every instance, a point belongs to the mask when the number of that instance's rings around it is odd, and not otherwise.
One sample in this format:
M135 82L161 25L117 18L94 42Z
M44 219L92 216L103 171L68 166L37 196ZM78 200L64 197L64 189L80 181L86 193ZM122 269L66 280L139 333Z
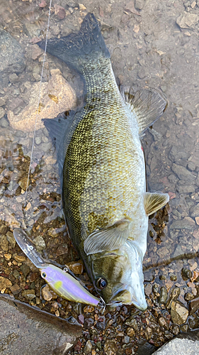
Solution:
M169 195L159 192L145 192L144 194L144 209L149 216L169 202Z

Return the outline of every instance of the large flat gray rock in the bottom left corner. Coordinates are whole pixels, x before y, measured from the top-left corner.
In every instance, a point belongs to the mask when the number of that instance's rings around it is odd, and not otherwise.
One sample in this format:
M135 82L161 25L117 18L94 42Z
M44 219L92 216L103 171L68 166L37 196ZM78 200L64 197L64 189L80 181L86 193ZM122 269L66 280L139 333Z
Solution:
M81 336L81 327L6 295L0 312L1 355L64 355Z

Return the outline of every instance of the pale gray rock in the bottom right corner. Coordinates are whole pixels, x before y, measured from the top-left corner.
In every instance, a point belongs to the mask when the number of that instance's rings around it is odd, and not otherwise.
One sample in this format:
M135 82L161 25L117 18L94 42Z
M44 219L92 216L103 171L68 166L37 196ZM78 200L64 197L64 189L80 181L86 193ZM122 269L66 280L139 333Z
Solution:
M195 330L193 332L181 333L177 337L167 342L157 351L154 355L176 355L176 354L186 354L186 355L196 355L199 354L199 331Z

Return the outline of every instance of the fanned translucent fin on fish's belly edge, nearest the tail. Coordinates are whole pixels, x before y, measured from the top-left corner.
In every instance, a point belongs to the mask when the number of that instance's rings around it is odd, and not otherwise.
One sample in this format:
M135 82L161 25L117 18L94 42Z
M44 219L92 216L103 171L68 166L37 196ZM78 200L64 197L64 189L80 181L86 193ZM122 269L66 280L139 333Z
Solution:
M130 89L123 89L123 97L137 117L140 136L159 119L168 104L159 92L152 89L139 90L135 94Z

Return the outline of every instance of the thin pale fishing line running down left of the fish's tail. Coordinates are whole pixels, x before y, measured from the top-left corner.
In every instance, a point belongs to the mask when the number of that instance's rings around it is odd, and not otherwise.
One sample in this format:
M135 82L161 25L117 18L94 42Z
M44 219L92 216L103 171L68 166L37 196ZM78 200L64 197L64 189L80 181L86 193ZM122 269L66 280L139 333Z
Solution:
M43 70L44 70L44 65L45 65L45 55L46 55L46 48L47 48L47 38L48 38L48 32L49 32L49 26L50 26L50 9L51 9L51 4L52 0L50 0L50 5L49 5L49 11L48 11L48 19L47 19L47 33L46 33L46 38L45 38L45 51L44 51L44 56L43 56L43 62L42 62L42 72L41 72L41 77L40 77L40 89L39 89L39 96L38 96L38 107L37 107L37 114L35 117L35 127L34 127L34 133L33 133L33 144L32 144L32 150L30 154L30 165L28 169L28 179L27 179L27 185L26 185L26 190L25 190L25 201L27 201L27 193L28 193L28 182L30 180L30 170L31 166L33 163L33 148L35 144L35 133L36 133L36 124L38 121L38 114L39 114L39 107L40 107L40 96L41 96L41 87L42 87L42 75L43 75Z

